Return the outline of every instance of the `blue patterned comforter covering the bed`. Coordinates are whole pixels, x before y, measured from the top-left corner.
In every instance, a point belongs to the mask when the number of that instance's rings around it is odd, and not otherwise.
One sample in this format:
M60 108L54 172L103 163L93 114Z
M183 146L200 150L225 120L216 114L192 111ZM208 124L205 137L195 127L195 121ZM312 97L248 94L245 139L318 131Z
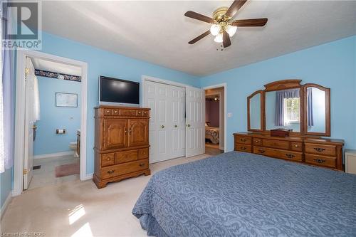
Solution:
M356 236L356 175L229 152L157 172L132 214L152 236Z

